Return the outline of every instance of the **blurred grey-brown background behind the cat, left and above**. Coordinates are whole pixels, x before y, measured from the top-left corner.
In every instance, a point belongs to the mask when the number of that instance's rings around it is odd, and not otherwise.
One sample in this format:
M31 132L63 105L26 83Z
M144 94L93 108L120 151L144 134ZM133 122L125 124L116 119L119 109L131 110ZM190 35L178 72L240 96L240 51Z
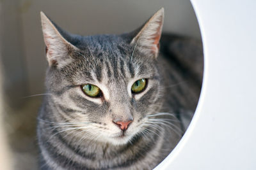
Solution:
M0 169L37 169L36 115L47 68L40 11L68 32L93 35L132 31L161 7L164 32L200 39L189 0L0 0Z

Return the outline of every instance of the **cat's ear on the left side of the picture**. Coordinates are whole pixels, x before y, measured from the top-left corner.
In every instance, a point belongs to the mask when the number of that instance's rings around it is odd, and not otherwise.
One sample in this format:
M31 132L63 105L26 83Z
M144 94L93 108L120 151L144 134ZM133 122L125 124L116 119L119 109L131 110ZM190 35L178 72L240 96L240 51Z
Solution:
M46 15L41 11L42 29L44 33L44 42L46 45L46 56L49 66L62 67L72 61L68 55L70 50L78 50L76 46L72 45L65 39L60 32L60 27L54 24ZM57 29L58 28L58 29ZM67 35L67 33L65 33Z

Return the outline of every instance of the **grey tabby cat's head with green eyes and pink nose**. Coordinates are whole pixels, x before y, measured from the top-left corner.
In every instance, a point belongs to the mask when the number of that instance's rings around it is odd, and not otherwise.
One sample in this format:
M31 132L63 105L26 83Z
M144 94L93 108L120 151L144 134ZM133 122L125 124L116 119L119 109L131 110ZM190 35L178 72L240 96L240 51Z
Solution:
M77 36L41 17L54 121L77 127L72 137L115 145L142 133L148 115L161 107L163 8L140 29L121 35Z

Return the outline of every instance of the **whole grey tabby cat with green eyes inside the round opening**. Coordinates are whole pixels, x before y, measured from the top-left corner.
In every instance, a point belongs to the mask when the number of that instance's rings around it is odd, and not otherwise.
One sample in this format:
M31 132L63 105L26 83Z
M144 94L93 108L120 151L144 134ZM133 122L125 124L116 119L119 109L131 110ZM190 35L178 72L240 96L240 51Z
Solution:
M156 167L179 142L180 114L195 111L201 85L158 56L163 8L121 35L68 34L41 17L51 95L38 115L40 169ZM190 42L173 38L170 48Z

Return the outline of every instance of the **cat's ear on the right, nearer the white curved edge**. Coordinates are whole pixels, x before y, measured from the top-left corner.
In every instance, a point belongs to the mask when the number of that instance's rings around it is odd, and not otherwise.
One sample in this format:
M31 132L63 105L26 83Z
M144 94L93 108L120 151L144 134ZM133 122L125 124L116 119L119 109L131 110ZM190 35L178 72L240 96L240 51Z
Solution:
M157 57L164 22L164 8L157 11L138 31L131 45L150 57Z

